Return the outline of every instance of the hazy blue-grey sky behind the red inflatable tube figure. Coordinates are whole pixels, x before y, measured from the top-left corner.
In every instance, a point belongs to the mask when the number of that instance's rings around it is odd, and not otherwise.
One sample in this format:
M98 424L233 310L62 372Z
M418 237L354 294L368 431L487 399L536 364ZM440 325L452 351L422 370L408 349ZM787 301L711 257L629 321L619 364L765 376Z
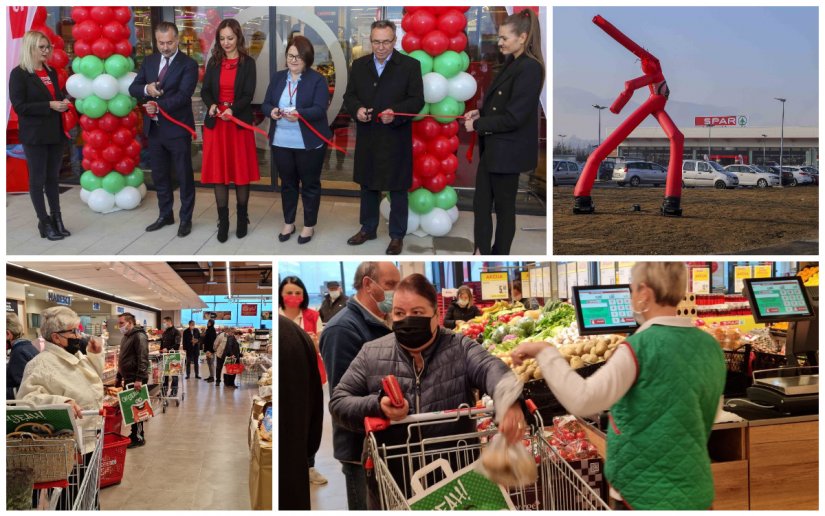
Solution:
M626 80L642 75L636 56L593 24L596 14L659 59L670 87L667 111L680 127L692 126L694 116L739 114L752 127L778 126L774 97L788 99L785 125L819 125L815 7L556 7L555 134L595 143L592 104L609 106ZM637 90L618 116L603 110L602 135L648 95Z

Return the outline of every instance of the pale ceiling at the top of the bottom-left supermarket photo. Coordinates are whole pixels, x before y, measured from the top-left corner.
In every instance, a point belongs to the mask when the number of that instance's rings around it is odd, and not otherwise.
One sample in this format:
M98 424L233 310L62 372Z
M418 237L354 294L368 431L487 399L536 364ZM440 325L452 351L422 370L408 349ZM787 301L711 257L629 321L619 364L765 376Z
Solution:
M161 310L206 308L166 262L10 262Z

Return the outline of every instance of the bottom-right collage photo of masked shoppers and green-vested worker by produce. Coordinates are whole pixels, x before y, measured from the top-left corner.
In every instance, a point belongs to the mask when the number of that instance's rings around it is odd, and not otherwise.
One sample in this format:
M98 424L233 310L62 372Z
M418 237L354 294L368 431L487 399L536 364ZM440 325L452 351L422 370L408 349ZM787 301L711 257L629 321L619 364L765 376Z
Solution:
M819 506L816 262L278 276L279 509Z

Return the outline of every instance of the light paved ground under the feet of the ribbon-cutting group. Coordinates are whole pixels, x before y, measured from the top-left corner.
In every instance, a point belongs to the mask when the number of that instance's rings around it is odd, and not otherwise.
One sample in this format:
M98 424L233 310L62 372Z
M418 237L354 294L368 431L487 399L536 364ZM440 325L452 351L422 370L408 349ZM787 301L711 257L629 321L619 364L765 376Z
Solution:
M357 198L325 196L321 201L319 224L313 240L299 245L293 236L288 242L278 242L276 235L283 225L281 197L275 192L252 192L250 196L249 235L239 240L235 237L235 201L230 200L231 231L229 241L221 244L216 239L217 211L211 189L199 188L195 200L192 233L186 238L177 237L177 224L153 233L144 228L157 219L157 198L149 192L141 206L130 211L99 214L91 211L80 201L80 187L73 187L61 194L61 208L66 227L72 236L57 242L40 238L37 220L28 194L6 196L6 249L13 255L290 255L317 254L374 255L384 254L389 244L387 224L379 227L378 239L361 246L349 246L347 238L360 227ZM233 194L230 193L230 197ZM176 194L177 199L177 194ZM177 222L176 202L175 219ZM300 207L299 207L300 210ZM301 215L298 216L299 230ZM516 220L516 237L512 252L522 255L547 254L547 218L519 215ZM524 231L538 228L539 231ZM473 251L473 217L471 212L461 212L450 234L441 238L407 235L404 254L470 254Z

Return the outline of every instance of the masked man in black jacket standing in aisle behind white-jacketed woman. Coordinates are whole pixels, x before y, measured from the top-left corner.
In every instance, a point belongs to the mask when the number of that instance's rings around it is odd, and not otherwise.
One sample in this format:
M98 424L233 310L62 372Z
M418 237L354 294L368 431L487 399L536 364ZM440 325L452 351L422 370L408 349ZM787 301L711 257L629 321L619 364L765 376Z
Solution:
M146 330L137 325L135 316L129 312L117 318L117 325L123 334L117 362L118 384L126 388L126 385L134 383L134 389L139 391L143 384L149 381L149 339L146 337ZM146 444L143 423L132 425L129 439L129 448Z

